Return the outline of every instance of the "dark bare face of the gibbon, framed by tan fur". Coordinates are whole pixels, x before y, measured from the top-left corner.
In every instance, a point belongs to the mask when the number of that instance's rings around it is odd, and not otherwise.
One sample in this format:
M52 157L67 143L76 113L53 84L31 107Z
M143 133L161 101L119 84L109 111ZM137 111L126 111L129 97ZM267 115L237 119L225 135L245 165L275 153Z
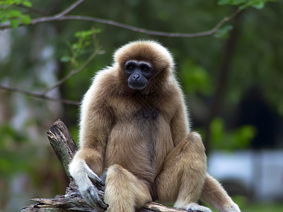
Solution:
M153 69L149 63L144 61L127 61L125 73L128 77L129 88L142 90L151 78Z

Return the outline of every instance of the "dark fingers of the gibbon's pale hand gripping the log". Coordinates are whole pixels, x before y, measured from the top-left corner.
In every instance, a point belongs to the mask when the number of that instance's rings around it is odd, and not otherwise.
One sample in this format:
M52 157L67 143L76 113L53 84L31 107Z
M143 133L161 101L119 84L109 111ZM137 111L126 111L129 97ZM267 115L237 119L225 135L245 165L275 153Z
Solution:
M96 208L99 211L105 211L108 208L108 204L105 204L105 202L100 199L95 188L89 187L86 192L87 200L85 200L89 205L93 206L93 208Z

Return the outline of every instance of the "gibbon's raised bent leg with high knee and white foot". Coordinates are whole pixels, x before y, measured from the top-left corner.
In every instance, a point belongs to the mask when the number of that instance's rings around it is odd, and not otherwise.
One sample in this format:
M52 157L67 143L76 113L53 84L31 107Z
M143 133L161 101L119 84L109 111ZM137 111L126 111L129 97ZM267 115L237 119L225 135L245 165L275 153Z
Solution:
M161 173L156 177L158 200L164 203L175 201L175 208L211 212L196 204L206 173L207 158L202 139L196 132L191 132L167 155Z

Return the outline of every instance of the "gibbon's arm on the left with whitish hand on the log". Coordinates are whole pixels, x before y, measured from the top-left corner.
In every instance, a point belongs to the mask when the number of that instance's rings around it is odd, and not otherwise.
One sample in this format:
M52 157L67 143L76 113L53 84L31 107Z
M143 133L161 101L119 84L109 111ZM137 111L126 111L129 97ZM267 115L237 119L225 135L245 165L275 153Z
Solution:
M99 88L96 80L83 98L81 106L80 122L80 148L69 165L69 172L75 179L79 191L86 202L104 211L107 204L100 199L96 187L103 189L104 182L98 177L103 173L103 156L105 145L112 125L110 110L108 110L106 101L101 99L105 97L105 92Z

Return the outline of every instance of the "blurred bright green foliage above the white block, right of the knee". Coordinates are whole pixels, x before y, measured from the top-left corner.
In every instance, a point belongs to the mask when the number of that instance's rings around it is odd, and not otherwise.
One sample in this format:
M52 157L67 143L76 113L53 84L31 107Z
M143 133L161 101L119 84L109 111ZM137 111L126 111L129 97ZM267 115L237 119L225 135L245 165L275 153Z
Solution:
M224 128L224 120L215 118L210 124L212 148L232 151L235 149L247 148L250 141L255 137L255 127L243 125L231 132Z

